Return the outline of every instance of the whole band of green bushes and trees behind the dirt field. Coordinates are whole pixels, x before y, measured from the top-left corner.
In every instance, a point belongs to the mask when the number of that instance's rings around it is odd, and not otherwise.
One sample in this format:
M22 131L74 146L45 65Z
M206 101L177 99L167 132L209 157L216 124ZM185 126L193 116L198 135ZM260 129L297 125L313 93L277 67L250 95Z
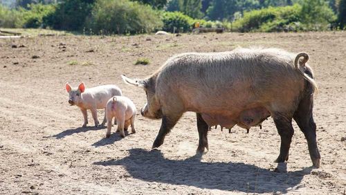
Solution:
M196 23L233 32L346 28L346 0L0 0L0 28L85 35L191 32Z

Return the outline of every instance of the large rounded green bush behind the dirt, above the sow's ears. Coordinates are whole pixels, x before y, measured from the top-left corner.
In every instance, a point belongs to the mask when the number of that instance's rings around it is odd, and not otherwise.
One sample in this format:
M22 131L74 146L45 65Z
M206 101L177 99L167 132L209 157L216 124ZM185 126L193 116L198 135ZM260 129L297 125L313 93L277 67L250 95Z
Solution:
M128 0L96 1L86 24L93 32L102 34L152 32L163 26L150 6Z

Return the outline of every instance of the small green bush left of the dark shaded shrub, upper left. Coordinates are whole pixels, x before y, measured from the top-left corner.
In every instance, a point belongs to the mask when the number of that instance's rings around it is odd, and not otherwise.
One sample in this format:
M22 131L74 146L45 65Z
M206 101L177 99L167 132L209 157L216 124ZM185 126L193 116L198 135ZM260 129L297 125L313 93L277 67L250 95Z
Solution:
M55 6L42 5L40 3L30 4L28 8L29 10L24 10L23 8L19 9L23 12L24 28L45 27L43 24L43 18L55 12Z

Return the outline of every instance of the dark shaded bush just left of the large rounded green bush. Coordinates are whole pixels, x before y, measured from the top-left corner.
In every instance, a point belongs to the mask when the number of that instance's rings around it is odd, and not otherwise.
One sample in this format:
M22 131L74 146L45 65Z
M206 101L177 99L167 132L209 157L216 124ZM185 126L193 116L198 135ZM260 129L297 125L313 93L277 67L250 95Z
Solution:
M44 25L57 30L82 30L93 3L94 0L64 0L43 18Z

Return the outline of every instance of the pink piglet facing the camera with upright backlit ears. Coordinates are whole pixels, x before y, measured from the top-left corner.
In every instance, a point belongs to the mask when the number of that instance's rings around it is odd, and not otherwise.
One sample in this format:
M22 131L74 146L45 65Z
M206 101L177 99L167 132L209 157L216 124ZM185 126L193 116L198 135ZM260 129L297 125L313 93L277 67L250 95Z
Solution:
M120 88L111 84L86 89L83 82L80 83L78 88L73 88L69 83L66 83L66 91L69 93L69 104L80 107L83 113L84 124L82 127L86 127L86 124L88 124L86 110L91 110L95 127L98 127L100 124L98 122L98 109L104 109L104 118L101 124L103 126L106 123L105 108L108 100L114 95L122 95Z

